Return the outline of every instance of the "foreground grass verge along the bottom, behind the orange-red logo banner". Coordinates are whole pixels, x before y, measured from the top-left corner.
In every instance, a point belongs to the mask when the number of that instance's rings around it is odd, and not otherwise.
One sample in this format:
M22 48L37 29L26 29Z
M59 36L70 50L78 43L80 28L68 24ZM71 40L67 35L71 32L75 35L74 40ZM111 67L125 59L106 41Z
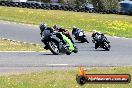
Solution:
M130 74L132 67L91 68L87 71L102 74ZM75 70L47 70L39 73L10 75L0 77L0 88L132 88L130 84L85 84L76 83Z

